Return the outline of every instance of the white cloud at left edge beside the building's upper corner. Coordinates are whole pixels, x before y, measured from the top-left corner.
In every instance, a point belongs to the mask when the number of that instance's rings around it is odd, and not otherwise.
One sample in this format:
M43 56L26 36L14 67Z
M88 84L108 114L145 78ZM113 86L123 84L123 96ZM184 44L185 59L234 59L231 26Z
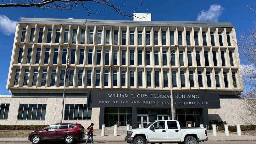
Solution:
M0 15L0 30L5 35L11 35L15 33L17 21L10 20L5 15Z

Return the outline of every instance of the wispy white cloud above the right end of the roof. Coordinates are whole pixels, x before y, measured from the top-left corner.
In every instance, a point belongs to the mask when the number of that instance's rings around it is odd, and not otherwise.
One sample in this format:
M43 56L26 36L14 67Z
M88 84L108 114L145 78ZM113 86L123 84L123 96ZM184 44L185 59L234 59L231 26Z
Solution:
M224 8L219 4L213 4L209 10L201 10L197 16L197 21L218 21Z

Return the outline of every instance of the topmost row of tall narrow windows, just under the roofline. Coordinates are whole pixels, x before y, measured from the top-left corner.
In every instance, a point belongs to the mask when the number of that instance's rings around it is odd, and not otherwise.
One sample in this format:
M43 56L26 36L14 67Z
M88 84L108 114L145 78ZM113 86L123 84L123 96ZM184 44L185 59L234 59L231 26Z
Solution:
M25 42L25 36L26 36L26 28L22 29L22 34L21 34L21 39L20 42ZM39 28L39 32L38 32L38 38L35 39L34 35L35 35L35 28L31 28L30 30L30 37L29 37L29 42L34 42L34 39L37 40L35 43L42 43L43 41L43 32L44 32L44 28ZM52 41L52 28L47 28L47 34L46 34L46 43L68 43L69 42L69 32L70 30L68 28L64 28L64 32L62 31L61 34L61 29L60 28L56 28L55 29L55 35L53 35L54 37L54 41ZM71 29L71 42L72 44L85 44L86 42L86 29L80 29L80 31L78 32L77 29ZM109 45L110 44L110 34L111 31L110 30L104 30L104 35L103 35L103 31L101 29L97 29L96 30L96 34L94 34L94 29L89 29L89 32L87 34L88 36L88 42L87 44L104 44L104 45ZM118 45L120 43L120 45L142 45L142 30L137 30L137 36L136 36L136 40L137 43L135 44L135 30L129 30L129 33L127 32L127 30L121 30L121 32L119 32L119 30L113 30L112 32L112 45ZM119 34L120 33L120 34ZM203 46L207 46L207 31L202 31L202 33L200 34L202 36L202 42L203 42ZM178 30L177 34L175 34L175 31L170 31L169 32L170 36L170 43L167 44L167 31L166 30L153 30L153 32L151 30L145 30L144 35L144 45L162 45L162 46L166 46L166 45L175 45L175 39L178 40L178 45L187 45L190 46L191 45L191 39L194 39L194 45L195 46L199 46L199 41L200 41L200 37L199 37L199 31L194 31L193 32L193 36L192 36L192 32L191 31L186 31L186 34L183 34L182 30ZM80 35L80 36L78 36ZM95 35L95 36L94 36ZM121 37L120 37L120 36ZM126 35L129 35L126 36ZM153 37L151 38L151 36L153 35ZM161 35L161 37L160 37ZM177 37L176 37L177 35ZM211 46L217 46L216 45L216 36L218 36L219 39L219 46L223 46L223 31L218 31L217 34L215 34L214 31L210 31L210 41L211 41ZM63 40L62 42L60 42L60 36L63 36ZM103 37L104 36L104 37ZM185 36L186 39L186 44L185 42L183 42L183 36ZM224 35L226 36L226 40L227 40L227 46L231 46L231 37L230 37L230 32L226 32L226 34ZM79 42L77 42L79 39ZM120 40L119 40L120 37ZM127 38L129 38L129 42L127 42ZM104 39L104 40L103 40ZM152 40L151 40L152 39ZM159 42L159 39L161 39L161 41ZM119 42L120 41L120 42ZM43 42L45 43L45 42Z

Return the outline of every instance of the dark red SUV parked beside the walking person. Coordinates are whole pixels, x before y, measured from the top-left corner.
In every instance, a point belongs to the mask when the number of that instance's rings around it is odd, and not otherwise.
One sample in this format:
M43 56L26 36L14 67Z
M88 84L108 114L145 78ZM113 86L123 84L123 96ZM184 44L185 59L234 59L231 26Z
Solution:
M84 127L76 123L52 124L42 130L32 131L28 135L28 140L33 144L38 144L41 140L64 140L67 144L71 144L83 138L85 138Z

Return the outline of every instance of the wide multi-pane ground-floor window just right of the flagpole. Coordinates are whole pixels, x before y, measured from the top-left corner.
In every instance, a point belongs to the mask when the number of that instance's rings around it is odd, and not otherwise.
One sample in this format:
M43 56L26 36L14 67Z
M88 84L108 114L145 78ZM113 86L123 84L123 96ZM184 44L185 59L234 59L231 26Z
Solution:
M64 120L86 119L92 119L92 108L86 108L86 104L65 104Z

